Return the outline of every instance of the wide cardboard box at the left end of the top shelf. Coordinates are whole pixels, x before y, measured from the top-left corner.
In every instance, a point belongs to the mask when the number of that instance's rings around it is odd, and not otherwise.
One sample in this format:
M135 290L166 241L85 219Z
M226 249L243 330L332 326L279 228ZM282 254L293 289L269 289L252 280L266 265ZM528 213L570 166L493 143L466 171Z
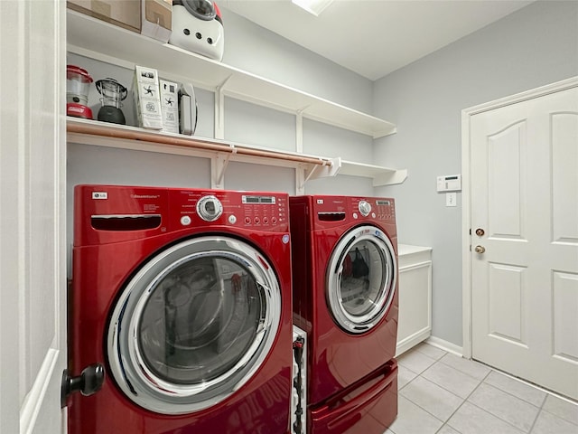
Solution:
M141 0L68 0L67 7L141 33Z

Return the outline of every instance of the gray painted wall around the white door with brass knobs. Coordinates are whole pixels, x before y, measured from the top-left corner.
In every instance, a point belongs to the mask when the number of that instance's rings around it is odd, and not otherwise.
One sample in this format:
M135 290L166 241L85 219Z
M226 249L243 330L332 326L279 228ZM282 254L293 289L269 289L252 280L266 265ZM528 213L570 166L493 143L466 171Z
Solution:
M433 247L433 331L462 343L461 193L445 207L437 175L461 173L461 110L578 75L578 2L536 2L375 82L374 114L397 125L377 165L405 167L399 240Z

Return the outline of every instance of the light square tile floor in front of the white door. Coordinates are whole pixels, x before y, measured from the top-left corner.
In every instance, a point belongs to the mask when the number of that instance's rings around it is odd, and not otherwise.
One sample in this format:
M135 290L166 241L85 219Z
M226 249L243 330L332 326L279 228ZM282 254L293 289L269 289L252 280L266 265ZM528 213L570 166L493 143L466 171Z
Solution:
M397 359L385 434L578 434L578 405L430 344Z

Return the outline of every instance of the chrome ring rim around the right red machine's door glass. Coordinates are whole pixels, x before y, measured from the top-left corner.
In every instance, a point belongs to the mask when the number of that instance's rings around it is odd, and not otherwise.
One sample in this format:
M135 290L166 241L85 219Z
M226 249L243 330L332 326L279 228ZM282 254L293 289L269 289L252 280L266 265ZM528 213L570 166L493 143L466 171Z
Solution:
M351 315L343 307L341 297L341 282L343 278L343 262L350 249L361 241L369 241L380 255L384 276L378 288L378 297L374 307L363 315ZM397 280L397 262L393 244L384 231L376 226L363 225L345 233L331 253L327 269L326 298L335 322L346 332L362 334L371 330L386 316L395 296Z

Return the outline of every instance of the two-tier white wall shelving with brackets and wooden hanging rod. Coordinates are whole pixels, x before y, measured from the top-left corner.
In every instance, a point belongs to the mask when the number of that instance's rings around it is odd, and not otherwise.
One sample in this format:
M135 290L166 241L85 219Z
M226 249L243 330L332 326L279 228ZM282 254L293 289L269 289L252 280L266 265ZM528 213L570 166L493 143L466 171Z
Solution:
M69 140L74 143L134 149L131 140L139 140L139 144L147 143L148 150L154 152L205 156L211 158L214 188L222 188L229 160L295 167L297 193L303 192L303 185L309 179L338 174L369 177L375 186L400 184L406 179L404 169L343 161L340 156L301 154L304 158L300 161L299 152L292 154L250 144L228 143L224 140L223 99L227 96L294 114L297 151L303 144L303 118L373 138L396 132L396 126L386 120L70 10L67 13L67 41L69 52L128 69L145 65L159 71L163 78L192 81L195 86L215 93L214 138L180 136L175 139L172 135L142 131L142 137L131 139L126 137L139 134L132 127L70 119ZM192 76L191 71L194 71ZM90 123L97 125L90 126ZM211 148L211 145L215 146Z

